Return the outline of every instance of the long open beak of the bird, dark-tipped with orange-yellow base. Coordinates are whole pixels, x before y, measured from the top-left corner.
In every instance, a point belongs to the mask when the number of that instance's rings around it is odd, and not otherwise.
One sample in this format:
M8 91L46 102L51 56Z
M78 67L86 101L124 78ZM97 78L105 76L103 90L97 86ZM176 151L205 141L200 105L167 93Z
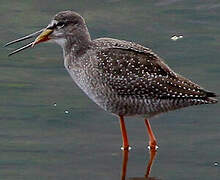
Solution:
M27 44L27 45L25 45L25 46L22 46L21 48L18 48L18 49L16 49L16 50L14 50L14 51L12 51L11 53L9 53L8 54L8 56L11 56L11 55L13 55L13 54L15 54L15 53L18 53L18 52L20 52L20 51L23 51L23 50L25 50L25 49L27 49L27 48L29 48L29 47L34 47L36 44L38 44L38 43L40 43L40 42L44 42L44 41L48 41L50 38L49 38L49 35L51 34L53 32L53 30L52 29L41 29L41 30L39 30L39 31L37 31L37 32L34 32L34 33L32 33L32 34L29 34L29 35L27 35L27 36L24 36L24 37L22 37L22 38L19 38L19 39L16 39L16 40L13 40L13 41L10 41L10 42L8 42L7 44L5 44L5 47L6 46L9 46L9 45L11 45L11 44L15 44L15 43L17 43L17 42L21 42L21 41L24 41L24 40L26 40L26 39L30 39L30 38L33 38L33 37L36 37L36 39L34 40L34 41L32 41L31 43L29 43L29 44Z

